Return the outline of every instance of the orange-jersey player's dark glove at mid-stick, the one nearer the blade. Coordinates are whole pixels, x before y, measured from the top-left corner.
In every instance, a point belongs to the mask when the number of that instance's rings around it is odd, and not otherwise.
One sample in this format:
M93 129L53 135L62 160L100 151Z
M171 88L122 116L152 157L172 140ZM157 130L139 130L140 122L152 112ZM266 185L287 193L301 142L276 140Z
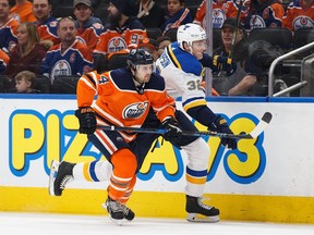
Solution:
M170 143L180 143L182 137L182 129L179 126L177 120L173 118L167 119L161 123L161 128L166 128L167 132L164 133L164 138Z

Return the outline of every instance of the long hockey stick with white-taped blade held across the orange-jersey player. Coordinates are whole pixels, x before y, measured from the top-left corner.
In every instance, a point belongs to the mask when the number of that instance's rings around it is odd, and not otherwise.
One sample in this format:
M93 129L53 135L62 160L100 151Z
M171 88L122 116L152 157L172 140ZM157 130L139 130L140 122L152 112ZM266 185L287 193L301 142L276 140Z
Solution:
M218 136L220 138L244 138L244 139L253 139L256 138L261 133L264 132L264 129L268 126L268 124L271 121L271 113L265 112L262 120L258 122L258 124L255 126L255 128L249 133L249 134L240 134L234 135L230 133L217 133L212 131L206 132L189 132L183 131L183 136ZM126 127L126 126L97 126L99 129L104 131L123 131L123 132L134 132L134 133L150 133L150 134L165 134L168 132L166 128L136 128L136 127Z

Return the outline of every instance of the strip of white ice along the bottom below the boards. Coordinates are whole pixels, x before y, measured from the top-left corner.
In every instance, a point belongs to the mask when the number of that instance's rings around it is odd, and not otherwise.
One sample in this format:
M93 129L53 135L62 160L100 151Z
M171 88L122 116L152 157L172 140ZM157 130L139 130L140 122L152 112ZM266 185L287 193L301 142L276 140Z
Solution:
M313 235L314 225L135 218L122 226L106 215L0 213L0 235Z

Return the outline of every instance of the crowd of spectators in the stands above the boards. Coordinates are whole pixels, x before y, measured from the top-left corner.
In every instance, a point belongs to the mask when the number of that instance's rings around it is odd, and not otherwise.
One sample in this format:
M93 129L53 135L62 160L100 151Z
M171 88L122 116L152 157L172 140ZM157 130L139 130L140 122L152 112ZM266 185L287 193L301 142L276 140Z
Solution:
M250 34L286 28L293 38L313 28L314 0L0 0L0 91L50 92L38 83L50 87L60 77L125 66L132 48L144 48L157 60L177 40L180 25L206 27L208 3L219 32L213 55L231 57L238 64L232 77L214 74L215 94L266 96L265 71L287 48L249 44ZM71 86L75 92L75 79Z

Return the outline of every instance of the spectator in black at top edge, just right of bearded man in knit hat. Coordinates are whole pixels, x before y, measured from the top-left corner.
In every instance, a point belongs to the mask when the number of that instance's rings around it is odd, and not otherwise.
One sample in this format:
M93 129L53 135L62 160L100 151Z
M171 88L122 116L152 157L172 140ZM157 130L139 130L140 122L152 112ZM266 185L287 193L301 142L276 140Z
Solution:
M147 27L161 27L166 21L166 12L158 2L153 0L140 0L137 18Z

